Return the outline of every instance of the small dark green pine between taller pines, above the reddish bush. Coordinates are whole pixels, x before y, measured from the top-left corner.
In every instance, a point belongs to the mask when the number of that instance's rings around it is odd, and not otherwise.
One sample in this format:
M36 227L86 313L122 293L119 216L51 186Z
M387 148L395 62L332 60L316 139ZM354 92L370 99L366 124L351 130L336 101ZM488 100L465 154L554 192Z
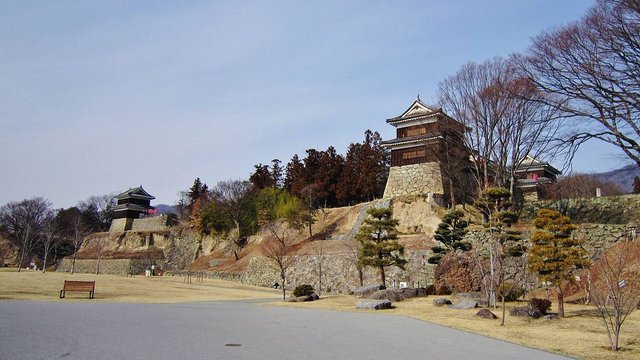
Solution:
M450 251L469 251L471 244L462 241L467 233L469 223L464 220L462 210L452 210L448 212L433 235L434 240L439 241L443 246L434 246L431 251L434 256L427 259L429 264L439 264L442 256Z

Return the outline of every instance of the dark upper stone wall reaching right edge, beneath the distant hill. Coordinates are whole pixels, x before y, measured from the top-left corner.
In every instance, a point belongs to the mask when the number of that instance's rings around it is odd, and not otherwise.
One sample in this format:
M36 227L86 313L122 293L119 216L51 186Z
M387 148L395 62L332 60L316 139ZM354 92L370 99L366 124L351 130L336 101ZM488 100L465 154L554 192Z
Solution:
M540 209L559 211L574 223L640 225L639 194L528 202L520 221L531 222Z

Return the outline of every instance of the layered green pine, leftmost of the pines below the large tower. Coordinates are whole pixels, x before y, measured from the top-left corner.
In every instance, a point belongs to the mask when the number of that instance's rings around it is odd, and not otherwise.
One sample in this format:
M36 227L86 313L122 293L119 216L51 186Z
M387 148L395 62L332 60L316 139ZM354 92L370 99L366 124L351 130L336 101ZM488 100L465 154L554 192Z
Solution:
M403 258L404 246L396 240L398 220L392 218L389 208L371 208L367 214L369 216L356 234L356 240L362 243L359 262L363 266L377 267L382 285L386 286L384 268L397 266L404 270L407 263Z

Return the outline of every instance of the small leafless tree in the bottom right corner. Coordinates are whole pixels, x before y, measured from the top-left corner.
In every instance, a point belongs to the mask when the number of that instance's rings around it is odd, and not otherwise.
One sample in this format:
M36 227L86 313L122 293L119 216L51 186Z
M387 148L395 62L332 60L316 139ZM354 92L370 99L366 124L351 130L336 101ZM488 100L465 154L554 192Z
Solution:
M639 245L638 242L614 245L588 273L589 298L598 308L614 351L620 349L622 324L640 305L640 270L633 266Z

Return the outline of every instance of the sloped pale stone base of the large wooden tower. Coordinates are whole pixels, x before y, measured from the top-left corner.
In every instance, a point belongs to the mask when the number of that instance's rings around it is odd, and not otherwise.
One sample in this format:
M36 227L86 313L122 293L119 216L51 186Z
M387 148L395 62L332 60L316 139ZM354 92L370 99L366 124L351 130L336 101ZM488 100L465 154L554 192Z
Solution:
M384 198L406 195L442 196L442 174L436 162L392 166L384 189Z

